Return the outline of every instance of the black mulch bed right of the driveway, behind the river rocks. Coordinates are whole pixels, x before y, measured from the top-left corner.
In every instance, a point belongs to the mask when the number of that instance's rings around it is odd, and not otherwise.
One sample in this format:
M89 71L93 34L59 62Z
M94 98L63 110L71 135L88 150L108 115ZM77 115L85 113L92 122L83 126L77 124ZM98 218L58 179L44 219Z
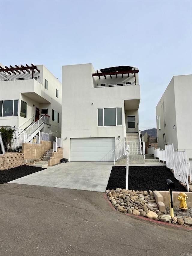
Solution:
M129 166L129 189L168 191L166 179L175 183L173 191L187 191L166 166ZM106 189L126 187L125 166L112 167Z

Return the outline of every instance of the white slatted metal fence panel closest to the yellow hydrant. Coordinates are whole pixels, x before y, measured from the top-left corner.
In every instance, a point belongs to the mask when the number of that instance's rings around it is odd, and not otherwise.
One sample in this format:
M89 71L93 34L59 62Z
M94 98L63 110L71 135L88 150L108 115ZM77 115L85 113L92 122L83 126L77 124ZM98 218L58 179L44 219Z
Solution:
M186 151L173 152L173 163L175 178L185 183L189 192Z

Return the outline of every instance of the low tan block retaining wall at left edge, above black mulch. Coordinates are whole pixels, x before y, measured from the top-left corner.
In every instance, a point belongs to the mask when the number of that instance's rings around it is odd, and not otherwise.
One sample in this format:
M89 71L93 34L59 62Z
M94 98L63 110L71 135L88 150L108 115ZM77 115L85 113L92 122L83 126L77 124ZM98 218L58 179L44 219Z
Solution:
M0 155L0 170L8 170L23 165L23 153L5 153Z

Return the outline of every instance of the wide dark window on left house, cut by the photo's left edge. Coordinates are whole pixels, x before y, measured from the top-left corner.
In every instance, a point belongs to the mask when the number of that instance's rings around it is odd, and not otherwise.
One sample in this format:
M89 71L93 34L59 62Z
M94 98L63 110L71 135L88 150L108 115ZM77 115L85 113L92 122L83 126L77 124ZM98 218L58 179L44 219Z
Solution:
M0 116L18 116L18 100L0 101Z

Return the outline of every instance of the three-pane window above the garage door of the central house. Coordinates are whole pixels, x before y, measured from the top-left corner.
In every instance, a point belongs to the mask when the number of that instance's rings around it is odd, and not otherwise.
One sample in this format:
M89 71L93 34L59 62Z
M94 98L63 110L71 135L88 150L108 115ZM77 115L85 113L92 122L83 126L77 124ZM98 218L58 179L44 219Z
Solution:
M98 126L122 125L122 107L99 108Z

